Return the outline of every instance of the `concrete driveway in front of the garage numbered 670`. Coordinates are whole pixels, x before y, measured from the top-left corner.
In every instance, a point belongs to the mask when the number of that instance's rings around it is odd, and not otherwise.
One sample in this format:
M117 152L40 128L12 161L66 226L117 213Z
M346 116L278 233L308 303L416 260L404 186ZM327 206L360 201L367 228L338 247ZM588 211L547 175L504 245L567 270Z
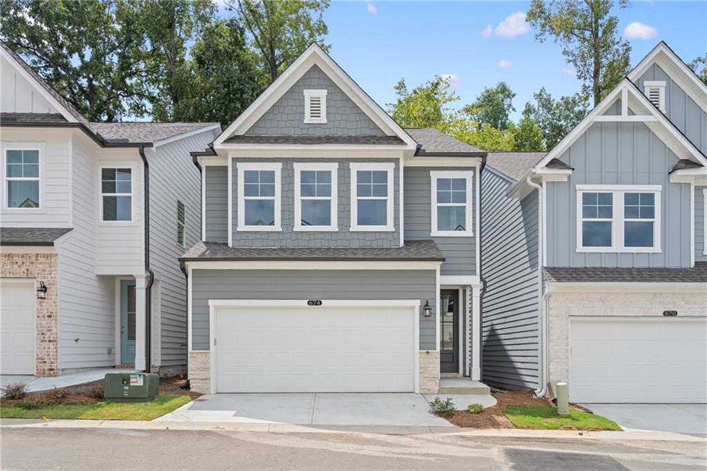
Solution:
M706 404L583 404L624 429L707 435Z

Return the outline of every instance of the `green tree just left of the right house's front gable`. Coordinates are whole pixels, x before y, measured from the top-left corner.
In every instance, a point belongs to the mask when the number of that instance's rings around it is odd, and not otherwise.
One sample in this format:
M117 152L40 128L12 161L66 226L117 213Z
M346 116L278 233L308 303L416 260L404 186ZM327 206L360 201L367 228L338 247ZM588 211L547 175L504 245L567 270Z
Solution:
M523 115L537 123L547 149L552 149L587 115L588 100L579 93L555 100L543 87L533 98L535 103L526 103Z

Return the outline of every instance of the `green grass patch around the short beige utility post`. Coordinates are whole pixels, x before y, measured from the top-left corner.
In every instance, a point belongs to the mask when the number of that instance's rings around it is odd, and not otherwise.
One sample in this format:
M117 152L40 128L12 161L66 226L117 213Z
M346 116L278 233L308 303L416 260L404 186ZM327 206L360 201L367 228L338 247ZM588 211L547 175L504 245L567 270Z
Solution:
M566 417L557 415L553 406L508 407L503 411L513 425L519 429L549 429L559 430L571 428L576 430L621 430L621 427L600 415L570 409Z

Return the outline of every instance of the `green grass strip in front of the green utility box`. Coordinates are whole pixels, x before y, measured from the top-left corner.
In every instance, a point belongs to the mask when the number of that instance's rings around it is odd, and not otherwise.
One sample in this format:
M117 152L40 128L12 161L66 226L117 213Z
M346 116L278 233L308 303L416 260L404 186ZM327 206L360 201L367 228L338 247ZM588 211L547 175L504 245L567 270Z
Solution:
M187 404L191 399L181 395L160 395L152 402L100 402L98 404L58 404L40 409L0 407L4 419L104 419L152 420Z

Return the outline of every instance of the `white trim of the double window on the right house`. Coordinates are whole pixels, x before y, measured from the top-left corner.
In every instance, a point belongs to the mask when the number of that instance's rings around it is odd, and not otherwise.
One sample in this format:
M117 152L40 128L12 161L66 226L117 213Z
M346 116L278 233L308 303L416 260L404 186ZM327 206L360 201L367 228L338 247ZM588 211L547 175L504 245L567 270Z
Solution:
M662 252L661 211L660 197L661 185L576 185L576 219L577 219L577 252L583 253L660 253ZM582 194L583 193L612 193L612 246L611 247L583 247L582 245ZM624 247L624 194L626 193L654 193L655 214L653 221L653 247ZM591 221L608 221L609 219L591 219ZM633 219L629 219L633 221ZM650 221L650 220L645 220Z

